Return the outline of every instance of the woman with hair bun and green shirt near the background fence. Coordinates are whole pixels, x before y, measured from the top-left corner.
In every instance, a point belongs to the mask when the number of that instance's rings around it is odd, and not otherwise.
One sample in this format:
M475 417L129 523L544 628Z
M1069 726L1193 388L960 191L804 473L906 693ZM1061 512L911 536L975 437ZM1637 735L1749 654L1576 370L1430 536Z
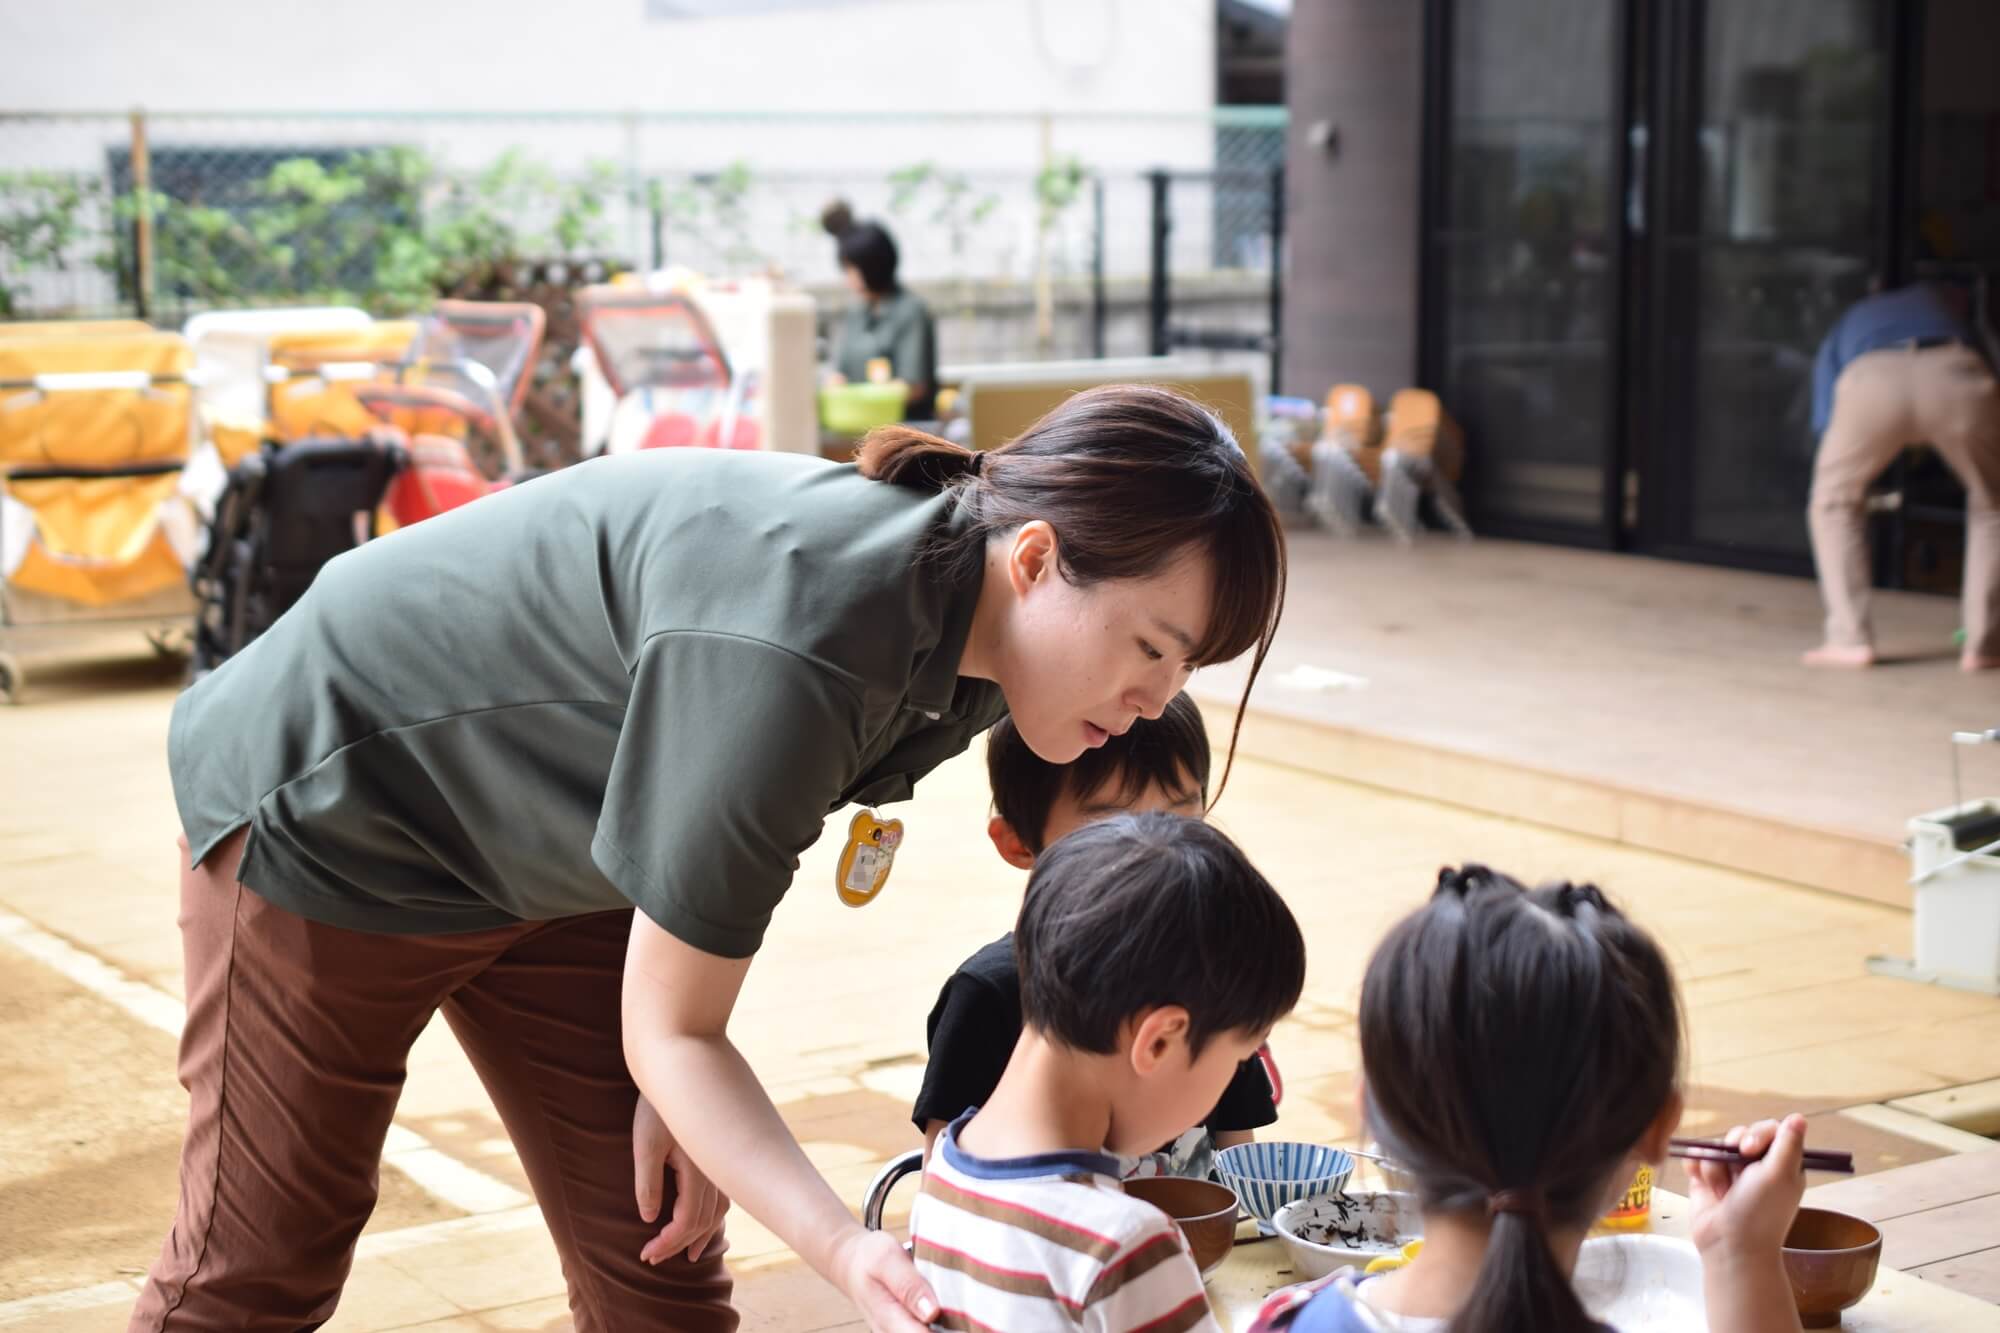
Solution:
M930 420L938 394L938 330L930 306L896 284L896 240L880 222L856 222L846 200L820 214L840 250L840 270L860 300L834 334L836 384L868 380L868 362L886 360L888 378L910 390L904 420Z

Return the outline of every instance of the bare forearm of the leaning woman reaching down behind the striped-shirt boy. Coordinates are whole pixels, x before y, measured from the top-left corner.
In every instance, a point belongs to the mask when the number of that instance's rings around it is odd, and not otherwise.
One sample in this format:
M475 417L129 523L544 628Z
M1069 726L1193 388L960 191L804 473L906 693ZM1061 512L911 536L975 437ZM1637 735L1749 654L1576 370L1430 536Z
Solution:
M750 959L686 945L632 915L624 1051L640 1093L722 1193L840 1287L882 1333L922 1333L938 1303L894 1237L864 1231L806 1161L728 1019Z

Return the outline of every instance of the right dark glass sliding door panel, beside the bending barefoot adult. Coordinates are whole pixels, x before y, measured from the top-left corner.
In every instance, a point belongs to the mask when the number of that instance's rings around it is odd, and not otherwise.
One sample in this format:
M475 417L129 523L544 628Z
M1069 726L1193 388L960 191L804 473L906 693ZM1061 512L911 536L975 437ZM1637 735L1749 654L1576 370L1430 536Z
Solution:
M1638 544L1806 570L1814 352L1890 252L1890 0L1658 8Z

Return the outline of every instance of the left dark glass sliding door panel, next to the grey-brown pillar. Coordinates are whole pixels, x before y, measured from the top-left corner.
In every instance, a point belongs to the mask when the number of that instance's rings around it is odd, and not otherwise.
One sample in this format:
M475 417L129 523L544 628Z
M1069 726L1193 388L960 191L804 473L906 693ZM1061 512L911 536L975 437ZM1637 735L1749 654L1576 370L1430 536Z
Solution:
M1620 4L1432 12L1426 366L1466 426L1474 522L1610 544Z

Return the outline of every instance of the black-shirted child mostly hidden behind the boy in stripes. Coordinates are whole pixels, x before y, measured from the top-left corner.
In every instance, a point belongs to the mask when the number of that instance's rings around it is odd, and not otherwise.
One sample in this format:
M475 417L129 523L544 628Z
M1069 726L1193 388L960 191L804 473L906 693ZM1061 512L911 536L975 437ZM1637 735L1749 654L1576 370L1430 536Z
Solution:
M1208 805L1208 731L1202 711L1180 693L1158 719L1138 719L1074 763L1052 765L1002 721L986 741L986 775L994 793L986 833L1008 865L1030 871L1044 847L1106 815L1168 811L1200 819ZM1002 935L952 973L930 1011L930 1065L910 1111L926 1151L954 1117L992 1095L1020 1027L1014 937ZM1214 1149L1250 1143L1252 1131L1278 1119L1266 1059L1262 1051L1244 1061L1200 1125L1126 1163L1126 1175L1204 1177Z

